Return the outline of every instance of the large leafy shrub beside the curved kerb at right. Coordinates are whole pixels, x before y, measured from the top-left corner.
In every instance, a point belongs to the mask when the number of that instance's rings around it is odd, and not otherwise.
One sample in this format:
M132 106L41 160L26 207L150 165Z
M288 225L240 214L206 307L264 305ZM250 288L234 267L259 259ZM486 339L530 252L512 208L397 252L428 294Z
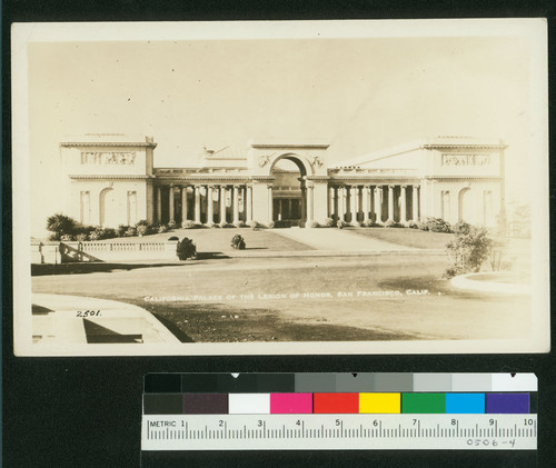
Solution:
M455 228L454 239L446 245L451 263L446 269L448 278L479 271L494 246L493 239L485 228L478 228L467 222L458 222Z

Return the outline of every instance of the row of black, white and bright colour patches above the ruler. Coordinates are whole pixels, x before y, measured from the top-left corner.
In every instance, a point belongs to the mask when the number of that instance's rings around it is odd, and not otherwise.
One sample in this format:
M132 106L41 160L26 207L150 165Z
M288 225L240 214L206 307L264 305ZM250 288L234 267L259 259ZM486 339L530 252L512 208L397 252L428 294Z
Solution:
M528 415L530 394L150 394L143 415Z

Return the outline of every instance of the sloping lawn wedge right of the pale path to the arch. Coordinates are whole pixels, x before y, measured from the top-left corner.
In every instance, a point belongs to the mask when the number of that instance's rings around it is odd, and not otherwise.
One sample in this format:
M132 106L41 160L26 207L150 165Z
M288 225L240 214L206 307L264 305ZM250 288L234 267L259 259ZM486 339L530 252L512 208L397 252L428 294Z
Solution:
M353 232L418 249L444 249L454 235L408 228L357 228Z

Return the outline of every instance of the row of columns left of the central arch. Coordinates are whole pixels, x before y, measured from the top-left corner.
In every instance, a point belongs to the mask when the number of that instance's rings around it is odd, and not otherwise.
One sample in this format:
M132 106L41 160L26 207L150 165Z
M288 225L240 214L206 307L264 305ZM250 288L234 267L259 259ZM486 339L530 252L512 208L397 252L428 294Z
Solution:
M188 188L192 190L192 202L188 197ZM214 222L237 225L239 221L249 222L252 219L252 188L246 185L193 185L169 186L168 190L168 221L176 222L176 191L179 190L181 221L192 220L196 223ZM230 205L228 205L230 201ZM231 216L228 216L230 207ZM241 208L241 209L240 209ZM201 215L206 216L202 217ZM216 218L216 220L215 220ZM157 187L157 222L162 222L162 187Z

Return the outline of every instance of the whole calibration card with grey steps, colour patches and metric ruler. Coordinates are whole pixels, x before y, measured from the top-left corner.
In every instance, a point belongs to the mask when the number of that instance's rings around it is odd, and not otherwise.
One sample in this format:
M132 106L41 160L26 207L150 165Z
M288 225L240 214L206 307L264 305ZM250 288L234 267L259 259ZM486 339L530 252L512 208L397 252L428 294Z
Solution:
M532 374L151 374L142 450L535 449Z

